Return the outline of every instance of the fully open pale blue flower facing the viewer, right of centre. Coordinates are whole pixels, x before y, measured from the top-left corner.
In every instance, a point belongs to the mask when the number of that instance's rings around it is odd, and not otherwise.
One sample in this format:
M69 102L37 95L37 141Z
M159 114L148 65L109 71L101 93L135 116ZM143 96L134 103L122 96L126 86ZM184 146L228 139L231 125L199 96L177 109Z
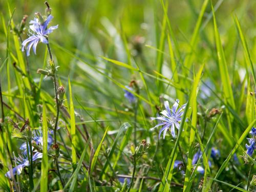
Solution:
M151 117L152 120L160 120L161 122L158 123L155 127L158 126L163 126L162 129L159 132L159 138L161 136L161 133L163 132L163 139L165 138L166 132L167 130L169 130L170 127L170 133L172 133L172 136L175 138L175 127L179 130L180 129L180 121L181 121L181 117L184 113L184 108L186 106L186 104L183 104L181 106L181 108L178 109L179 106L179 99L176 99L172 110L169 107L169 102L168 101L164 101L164 106L165 109L164 111L161 112L162 116L160 117ZM155 127L153 127L152 129L154 129Z

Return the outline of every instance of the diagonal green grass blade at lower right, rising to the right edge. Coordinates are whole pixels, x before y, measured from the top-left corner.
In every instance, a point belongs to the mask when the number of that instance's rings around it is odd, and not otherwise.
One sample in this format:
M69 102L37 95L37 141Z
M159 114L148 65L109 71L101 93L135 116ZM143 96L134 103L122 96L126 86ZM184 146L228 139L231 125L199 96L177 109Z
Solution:
M232 151L229 153L227 159L222 163L220 169L218 170L218 173L215 176L215 179L217 179L221 173L223 172L223 170L225 169L225 167L227 166L227 163L229 162L229 160L231 159L231 157L234 155L234 153L236 153L236 151L238 150L238 147L241 145L241 143L243 142L243 140L247 137L248 133L251 131L251 128L254 126L256 122L256 119L254 119L249 126L246 128L246 130L244 131L244 133L242 134L242 136L239 138L239 140L236 143L236 146L234 146L234 148L232 149Z

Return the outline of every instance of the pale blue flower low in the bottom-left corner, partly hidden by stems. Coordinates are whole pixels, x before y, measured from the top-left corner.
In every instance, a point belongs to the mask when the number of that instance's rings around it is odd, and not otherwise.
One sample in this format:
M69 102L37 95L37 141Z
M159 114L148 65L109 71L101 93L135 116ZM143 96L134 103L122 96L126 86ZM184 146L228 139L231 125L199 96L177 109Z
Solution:
M42 154L39 152L36 152L32 157L32 161L35 161L40 158L42 158ZM23 168L30 165L30 162L27 157L22 157L22 156L15 157L15 161L17 162L17 166L12 168L13 175L15 174L20 175L20 173L22 173ZM11 179L11 170L9 170L5 174L5 176Z

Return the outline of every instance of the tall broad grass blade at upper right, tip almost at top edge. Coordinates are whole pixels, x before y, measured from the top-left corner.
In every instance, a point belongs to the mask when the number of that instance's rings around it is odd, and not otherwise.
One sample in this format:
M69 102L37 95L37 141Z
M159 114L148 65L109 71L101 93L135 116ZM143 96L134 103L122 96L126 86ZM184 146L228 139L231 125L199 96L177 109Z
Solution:
M216 40L216 47L217 47L217 56L218 56L218 62L219 62L221 81L223 83L224 96L225 96L226 102L229 103L233 109L235 109L232 87L231 87L231 83L230 83L229 75L228 75L226 58L225 58L220 34L218 31L218 27L217 27L214 8L212 7L212 5L211 5L211 9L212 9L213 17L214 17L214 32L215 32L215 40Z

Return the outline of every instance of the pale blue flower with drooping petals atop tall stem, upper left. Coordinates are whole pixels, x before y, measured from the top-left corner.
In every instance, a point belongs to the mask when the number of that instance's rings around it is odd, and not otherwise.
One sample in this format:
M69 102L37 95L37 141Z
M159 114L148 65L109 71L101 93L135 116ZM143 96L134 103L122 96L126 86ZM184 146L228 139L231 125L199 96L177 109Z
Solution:
M30 49L33 47L33 51L36 54L36 46L39 41L43 42L44 44L48 44L47 35L50 34L54 29L58 28L58 25L49 27L47 29L48 24L52 20L53 16L49 15L46 21L42 24L39 23L38 18L34 18L31 20L29 28L33 31L30 32L31 36L23 41L22 43L22 51L25 51L25 47L27 46L27 56L30 55Z

